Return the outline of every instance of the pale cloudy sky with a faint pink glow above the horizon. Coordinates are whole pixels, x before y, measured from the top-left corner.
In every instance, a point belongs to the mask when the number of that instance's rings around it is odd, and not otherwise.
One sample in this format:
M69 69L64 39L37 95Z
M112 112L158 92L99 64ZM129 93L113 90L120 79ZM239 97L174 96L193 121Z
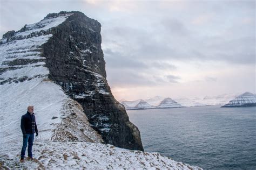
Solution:
M255 1L0 2L1 38L53 12L98 20L117 100L256 93Z

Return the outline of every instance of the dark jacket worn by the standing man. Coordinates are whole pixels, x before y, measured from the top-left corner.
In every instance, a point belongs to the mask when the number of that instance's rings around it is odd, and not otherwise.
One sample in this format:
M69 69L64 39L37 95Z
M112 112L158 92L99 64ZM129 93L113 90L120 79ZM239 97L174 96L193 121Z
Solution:
M36 125L36 117L33 113L32 115L30 112L26 112L25 115L21 118L21 129L22 133L24 134L31 134L31 133L38 133L37 125Z

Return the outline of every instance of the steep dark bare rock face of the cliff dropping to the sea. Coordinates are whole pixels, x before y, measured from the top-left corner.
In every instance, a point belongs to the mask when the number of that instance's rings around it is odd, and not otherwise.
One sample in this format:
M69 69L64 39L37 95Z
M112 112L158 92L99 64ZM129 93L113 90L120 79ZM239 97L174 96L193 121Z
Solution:
M91 126L106 144L143 151L138 128L107 84L100 23L73 11L51 13L46 18L63 13L73 14L51 29L53 36L42 46L49 78L82 104Z

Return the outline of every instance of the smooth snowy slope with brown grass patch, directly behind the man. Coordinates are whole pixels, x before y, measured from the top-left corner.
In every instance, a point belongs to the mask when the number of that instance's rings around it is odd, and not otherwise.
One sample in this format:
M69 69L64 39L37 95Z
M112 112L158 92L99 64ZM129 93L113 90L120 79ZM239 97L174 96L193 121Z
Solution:
M103 142L99 134L90 127L79 103L66 96L49 79L35 78L5 83L1 85L0 94L1 144L22 140L19 138L22 137L20 121L28 105L35 107L40 141Z

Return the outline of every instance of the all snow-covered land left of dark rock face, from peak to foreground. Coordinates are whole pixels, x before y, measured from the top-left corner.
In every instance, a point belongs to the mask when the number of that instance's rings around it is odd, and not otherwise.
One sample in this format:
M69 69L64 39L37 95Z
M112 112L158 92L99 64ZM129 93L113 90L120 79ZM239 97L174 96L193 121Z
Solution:
M49 70L44 67L41 56L41 45L51 38L47 30L64 22L69 15L26 25L11 37L13 39L0 40L0 167L200 169L159 153L102 144L101 136L91 128L82 106L48 79ZM33 145L36 160L19 163L20 121L28 105L35 107L39 132Z

